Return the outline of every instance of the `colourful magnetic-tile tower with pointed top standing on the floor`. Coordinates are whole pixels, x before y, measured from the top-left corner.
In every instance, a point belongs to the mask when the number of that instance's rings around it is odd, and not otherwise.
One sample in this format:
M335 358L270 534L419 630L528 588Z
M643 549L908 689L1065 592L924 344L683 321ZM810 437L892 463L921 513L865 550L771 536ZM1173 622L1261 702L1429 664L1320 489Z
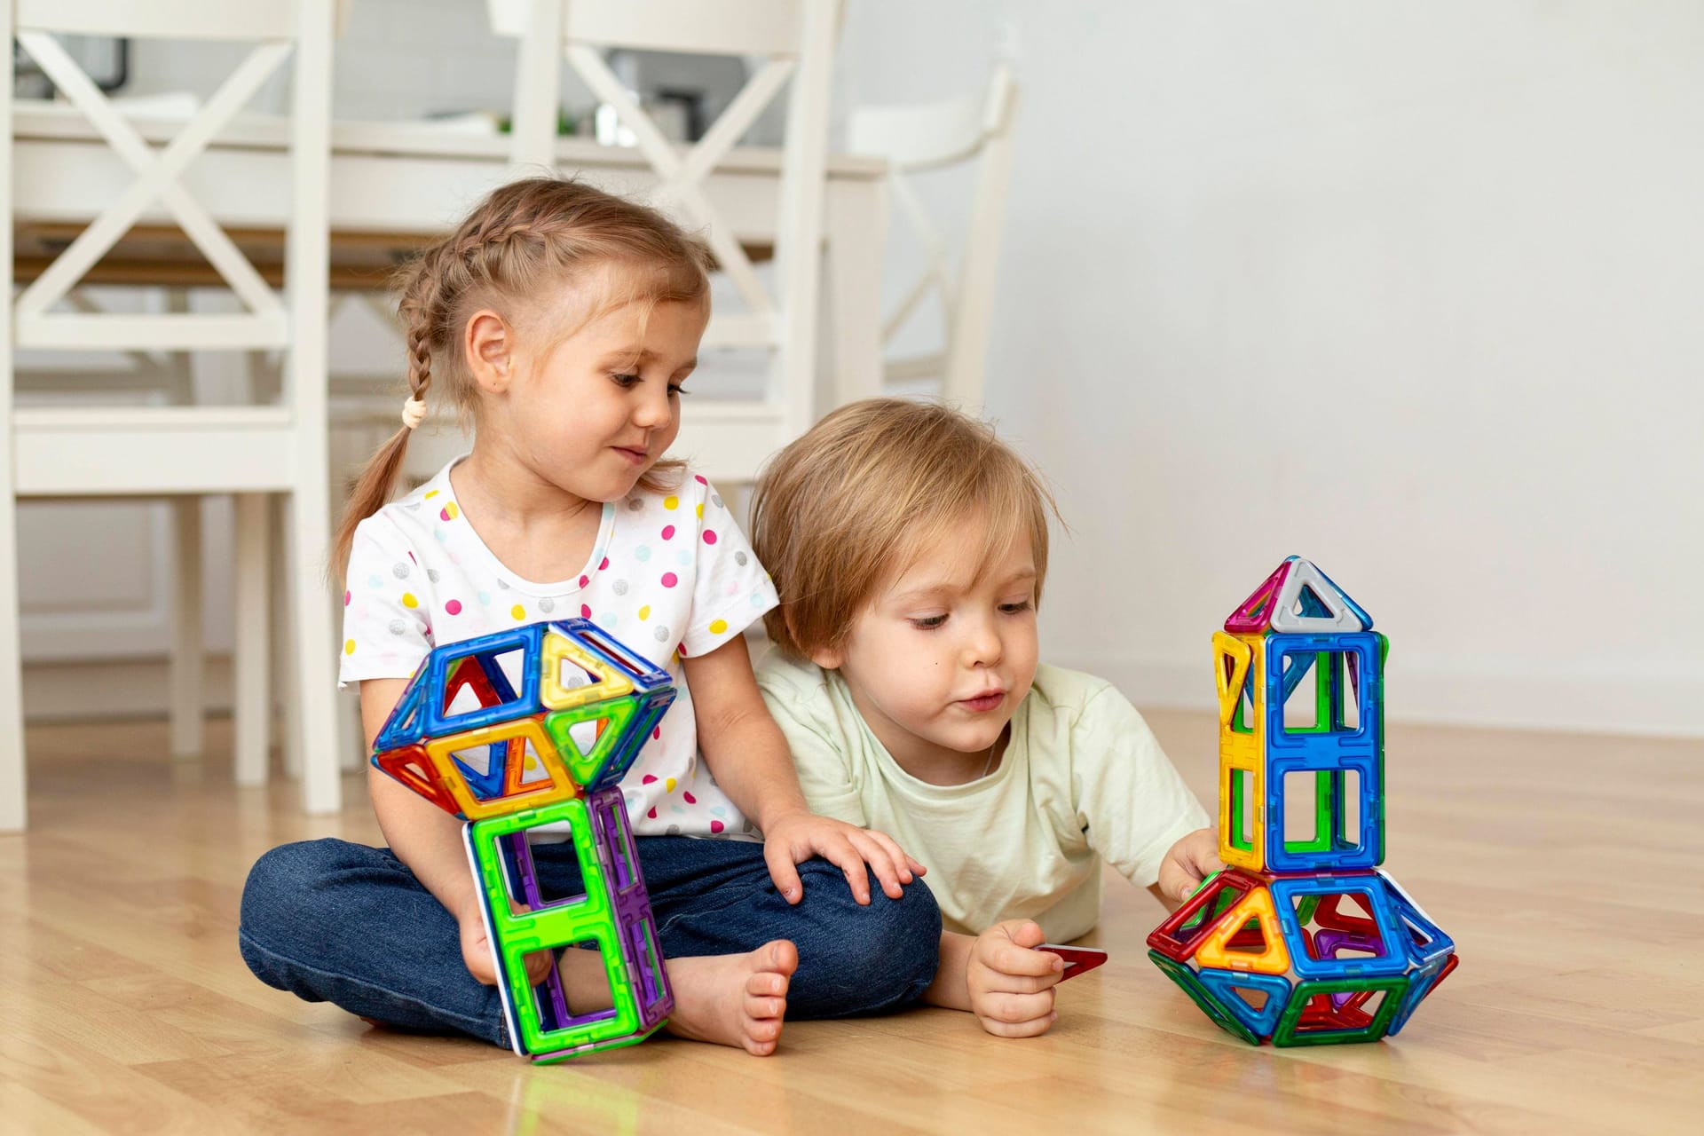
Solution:
M1457 964L1379 870L1389 640L1372 627L1290 557L1213 632L1229 867L1148 935L1148 957L1256 1046L1392 1036Z

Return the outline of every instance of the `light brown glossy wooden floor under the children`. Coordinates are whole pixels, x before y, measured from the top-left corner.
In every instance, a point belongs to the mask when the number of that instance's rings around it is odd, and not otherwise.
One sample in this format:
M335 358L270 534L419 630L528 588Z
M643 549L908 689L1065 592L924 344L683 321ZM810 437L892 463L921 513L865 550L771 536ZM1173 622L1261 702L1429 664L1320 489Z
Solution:
M1155 714L1196 792L1205 715ZM1704 1126L1704 743L1394 726L1389 869L1462 966L1401 1037L1251 1049L1145 959L1160 909L1109 881L1113 961L1039 1041L961 1013L799 1022L769 1059L678 1041L530 1068L368 1029L237 955L244 872L375 841L363 794L305 821L172 763L160 724L31 731L27 836L0 836L0 1131L14 1133L1695 1133ZM1230 1126L1235 1126L1232 1129Z

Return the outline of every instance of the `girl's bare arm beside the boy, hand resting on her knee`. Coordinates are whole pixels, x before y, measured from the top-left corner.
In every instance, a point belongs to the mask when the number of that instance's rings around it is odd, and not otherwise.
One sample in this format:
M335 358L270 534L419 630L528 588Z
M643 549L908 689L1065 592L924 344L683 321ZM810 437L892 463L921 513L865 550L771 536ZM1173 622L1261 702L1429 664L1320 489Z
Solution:
M787 903L804 898L797 863L820 855L845 872L852 896L869 903L869 870L891 899L922 875L886 833L857 828L811 812L792 768L792 754L751 674L745 637L685 659L687 685L699 715L699 749L716 783L763 829L769 875Z

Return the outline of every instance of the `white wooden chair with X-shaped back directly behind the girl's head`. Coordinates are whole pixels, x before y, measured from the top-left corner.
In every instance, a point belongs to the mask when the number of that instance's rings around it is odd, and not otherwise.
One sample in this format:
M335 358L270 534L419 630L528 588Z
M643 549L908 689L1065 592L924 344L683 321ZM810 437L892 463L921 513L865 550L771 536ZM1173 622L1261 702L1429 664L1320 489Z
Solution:
M513 5L509 5L513 9ZM813 419L828 73L840 0L537 0L525 22L494 7L498 31L521 34L513 160L520 170L556 169L559 61L613 107L651 165L648 201L695 230L716 254L743 312L717 312L705 347L772 353L758 404L700 402L682 448L724 479L750 479L777 446ZM757 60L748 82L702 138L680 146L641 107L605 51L728 55ZM786 140L774 218L774 281L765 283L741 233L705 192L707 177L787 90Z

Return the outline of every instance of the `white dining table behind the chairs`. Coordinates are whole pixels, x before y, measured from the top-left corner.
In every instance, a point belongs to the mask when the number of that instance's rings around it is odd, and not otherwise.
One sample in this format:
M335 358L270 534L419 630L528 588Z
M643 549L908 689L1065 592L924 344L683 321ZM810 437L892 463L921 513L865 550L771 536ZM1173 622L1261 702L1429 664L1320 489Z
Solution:
M12 181L20 221L82 223L107 204L131 172L72 107L19 100ZM176 119L138 119L150 143L169 141ZM186 172L184 187L230 228L278 228L288 215L288 160L283 123L239 118ZM373 235L421 235L453 227L486 191L523 175L509 165L504 135L467 133L431 123L337 123L331 131L331 228ZM564 172L615 192L644 194L654 175L627 148L562 138ZM825 327L830 380L820 390L845 390L850 376L881 371L881 261L888 228L886 162L832 155L825 192L828 291ZM775 238L780 152L738 148L705 182L717 211L743 244ZM164 213L143 221L169 221Z

